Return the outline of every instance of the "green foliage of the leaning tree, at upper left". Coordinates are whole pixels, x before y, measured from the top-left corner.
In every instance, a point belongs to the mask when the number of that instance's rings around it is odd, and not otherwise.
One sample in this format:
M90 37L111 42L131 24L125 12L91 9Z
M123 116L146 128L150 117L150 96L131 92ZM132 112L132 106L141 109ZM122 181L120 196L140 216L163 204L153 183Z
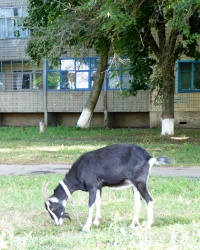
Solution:
M96 18L98 8L99 4L84 0L29 0L24 21L31 32L27 53L39 63L43 58L55 61L70 51L74 56L91 48L97 54L104 52L109 39L101 32L101 18Z

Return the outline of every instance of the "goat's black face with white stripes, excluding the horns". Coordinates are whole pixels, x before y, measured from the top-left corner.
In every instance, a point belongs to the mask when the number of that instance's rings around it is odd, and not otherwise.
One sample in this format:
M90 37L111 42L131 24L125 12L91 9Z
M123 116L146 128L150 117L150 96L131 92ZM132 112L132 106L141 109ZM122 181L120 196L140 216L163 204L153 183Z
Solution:
M45 207L53 220L53 223L57 226L63 224L63 218L67 217L65 215L65 207L63 206L63 202L59 202L59 200L55 197L49 198L45 202Z

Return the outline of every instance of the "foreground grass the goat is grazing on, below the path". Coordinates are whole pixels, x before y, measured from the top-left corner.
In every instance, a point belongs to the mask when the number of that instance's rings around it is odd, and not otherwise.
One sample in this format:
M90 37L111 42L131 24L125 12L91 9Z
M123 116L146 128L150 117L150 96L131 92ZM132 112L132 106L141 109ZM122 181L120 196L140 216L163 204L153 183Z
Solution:
M103 189L102 221L88 234L80 232L70 203L72 221L56 227L44 209L41 187L50 180L49 195L63 175L0 177L0 249L187 249L200 246L200 179L151 177L154 225L150 233L142 227L130 229L134 212L131 189ZM73 194L82 223L87 219L88 193ZM146 220L142 204L141 222Z

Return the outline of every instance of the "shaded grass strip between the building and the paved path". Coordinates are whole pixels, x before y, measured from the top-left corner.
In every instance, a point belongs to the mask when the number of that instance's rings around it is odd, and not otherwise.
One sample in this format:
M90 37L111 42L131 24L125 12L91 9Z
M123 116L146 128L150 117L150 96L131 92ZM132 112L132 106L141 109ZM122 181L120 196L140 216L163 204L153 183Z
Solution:
M166 155L174 166L199 166L200 130L176 129L161 136L160 129L100 129L48 127L0 128L0 164L74 162L82 153L114 143L134 143L153 156Z

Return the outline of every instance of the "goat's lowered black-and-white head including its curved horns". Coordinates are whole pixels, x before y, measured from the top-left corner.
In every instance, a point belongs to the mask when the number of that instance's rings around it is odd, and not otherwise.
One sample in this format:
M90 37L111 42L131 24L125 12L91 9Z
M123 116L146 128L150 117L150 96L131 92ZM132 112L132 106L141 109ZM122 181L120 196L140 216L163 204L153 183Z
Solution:
M53 195L48 197L47 195L48 184L49 183L44 183L42 188L45 208L48 211L49 215L51 216L53 223L57 226L60 226L63 224L64 218L68 218L70 220L70 217L65 213L66 201L65 200L61 201Z

